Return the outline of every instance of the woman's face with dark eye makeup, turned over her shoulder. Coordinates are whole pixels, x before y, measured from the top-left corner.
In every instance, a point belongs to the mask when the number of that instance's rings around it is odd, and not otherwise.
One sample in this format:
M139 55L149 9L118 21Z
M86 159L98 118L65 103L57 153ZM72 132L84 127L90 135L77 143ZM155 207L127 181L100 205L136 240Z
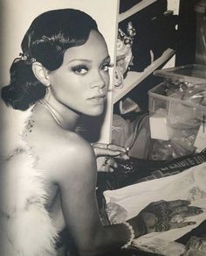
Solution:
M84 45L67 49L61 67L49 74L52 96L72 111L100 115L106 102L109 65L106 42L92 31Z

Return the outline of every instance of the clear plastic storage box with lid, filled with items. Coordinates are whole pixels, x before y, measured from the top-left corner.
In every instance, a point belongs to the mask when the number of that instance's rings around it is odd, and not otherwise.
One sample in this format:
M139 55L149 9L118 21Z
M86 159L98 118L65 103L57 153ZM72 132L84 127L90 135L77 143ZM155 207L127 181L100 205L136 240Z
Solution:
M164 77L148 91L150 158L170 160L206 147L206 67L188 65L154 71Z

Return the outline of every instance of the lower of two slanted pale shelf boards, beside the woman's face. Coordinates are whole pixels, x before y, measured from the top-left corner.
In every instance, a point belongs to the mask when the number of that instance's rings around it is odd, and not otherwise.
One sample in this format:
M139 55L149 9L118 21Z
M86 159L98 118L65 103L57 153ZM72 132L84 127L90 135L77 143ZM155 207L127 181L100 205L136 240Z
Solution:
M123 86L113 89L113 103L120 100L121 97L127 95L127 93L134 89L141 81L143 81L148 75L150 75L156 68L159 68L161 64L169 60L175 54L175 50L168 48L161 57L145 68L143 72L129 71L127 77L123 82Z

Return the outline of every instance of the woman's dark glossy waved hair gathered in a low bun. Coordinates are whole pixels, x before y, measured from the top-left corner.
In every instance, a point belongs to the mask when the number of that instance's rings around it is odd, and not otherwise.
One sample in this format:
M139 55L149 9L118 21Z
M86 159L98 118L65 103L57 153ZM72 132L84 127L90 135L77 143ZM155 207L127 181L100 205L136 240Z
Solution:
M14 109L27 110L43 98L46 88L33 74L31 60L53 71L62 65L66 49L84 45L92 30L98 31L96 22L79 10L47 11L35 18L21 44L22 58L10 67L10 84L2 89L3 101Z

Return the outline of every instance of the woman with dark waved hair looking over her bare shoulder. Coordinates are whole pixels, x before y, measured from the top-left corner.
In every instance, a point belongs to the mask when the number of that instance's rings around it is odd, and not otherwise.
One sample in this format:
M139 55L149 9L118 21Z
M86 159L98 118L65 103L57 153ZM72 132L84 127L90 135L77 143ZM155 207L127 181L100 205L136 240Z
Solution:
M124 224L100 222L95 153L78 133L81 115L102 114L109 84L110 57L93 18L71 9L45 12L26 32L22 51L2 90L15 110L3 106L1 123L12 130L18 118L19 127L2 136L1 255L56 255L65 226L76 253L92 256L151 231L194 224L171 222L177 213L199 213L181 200L149 205Z

